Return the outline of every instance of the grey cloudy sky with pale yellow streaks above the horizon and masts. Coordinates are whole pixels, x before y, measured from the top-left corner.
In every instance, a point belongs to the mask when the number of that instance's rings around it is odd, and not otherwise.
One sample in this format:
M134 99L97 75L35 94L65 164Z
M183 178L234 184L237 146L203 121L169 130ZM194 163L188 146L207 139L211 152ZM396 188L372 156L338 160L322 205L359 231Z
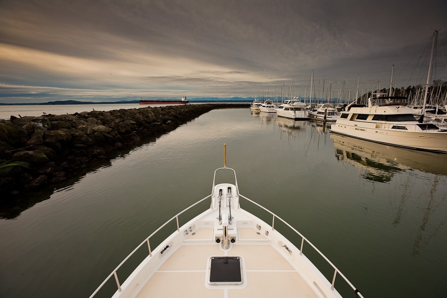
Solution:
M447 81L447 1L0 0L0 103Z

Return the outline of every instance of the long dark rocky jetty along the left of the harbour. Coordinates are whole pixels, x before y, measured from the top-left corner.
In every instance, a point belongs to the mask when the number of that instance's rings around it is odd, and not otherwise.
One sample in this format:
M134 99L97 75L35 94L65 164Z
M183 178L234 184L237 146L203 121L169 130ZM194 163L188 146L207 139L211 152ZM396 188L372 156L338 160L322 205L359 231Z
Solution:
M0 120L0 201L54 187L95 161L114 158L213 109L248 106L176 105Z

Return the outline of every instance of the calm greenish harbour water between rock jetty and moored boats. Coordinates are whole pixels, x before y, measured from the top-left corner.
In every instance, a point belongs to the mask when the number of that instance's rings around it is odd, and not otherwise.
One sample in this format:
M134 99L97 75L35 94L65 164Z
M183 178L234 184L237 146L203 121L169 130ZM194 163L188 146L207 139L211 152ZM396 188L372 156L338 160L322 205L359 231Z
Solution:
M241 194L295 226L365 297L446 297L447 155L248 109L202 115L0 220L0 296L88 297L211 193L224 143Z

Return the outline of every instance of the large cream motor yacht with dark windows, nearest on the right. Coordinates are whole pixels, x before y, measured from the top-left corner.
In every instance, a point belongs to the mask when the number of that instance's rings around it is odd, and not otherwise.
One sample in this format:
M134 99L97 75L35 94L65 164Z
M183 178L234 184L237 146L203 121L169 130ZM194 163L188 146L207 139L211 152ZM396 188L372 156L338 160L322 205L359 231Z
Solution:
M399 102L406 97L370 97L368 105L349 104L331 132L397 147L447 153L447 132L419 123L414 111Z

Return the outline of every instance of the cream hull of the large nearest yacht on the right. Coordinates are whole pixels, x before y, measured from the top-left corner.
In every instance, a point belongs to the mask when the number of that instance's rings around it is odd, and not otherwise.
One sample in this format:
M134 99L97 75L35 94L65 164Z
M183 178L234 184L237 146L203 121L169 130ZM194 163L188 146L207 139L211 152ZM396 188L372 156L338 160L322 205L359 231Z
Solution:
M335 123L331 125L331 132L334 134L353 137L370 142L392 145L401 148L443 152L447 153L447 133L446 132L408 132L398 130L384 130L363 125L362 127L345 123Z

